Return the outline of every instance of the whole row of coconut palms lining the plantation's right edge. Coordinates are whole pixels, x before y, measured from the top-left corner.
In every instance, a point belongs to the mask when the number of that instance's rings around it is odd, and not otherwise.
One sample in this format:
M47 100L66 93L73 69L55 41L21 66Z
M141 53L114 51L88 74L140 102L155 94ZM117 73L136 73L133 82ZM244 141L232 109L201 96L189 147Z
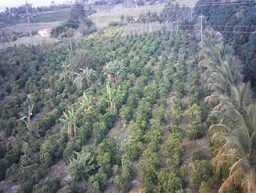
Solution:
M208 75L205 86L214 91L211 97L219 102L212 115L220 120L219 124L211 125L209 132L212 141L222 145L212 162L217 171L229 167L229 176L219 192L241 187L243 192L255 193L256 105L252 104L252 89L250 83L239 83L240 61L232 49L214 34L207 38L212 42L205 44L205 57L200 65L205 66Z

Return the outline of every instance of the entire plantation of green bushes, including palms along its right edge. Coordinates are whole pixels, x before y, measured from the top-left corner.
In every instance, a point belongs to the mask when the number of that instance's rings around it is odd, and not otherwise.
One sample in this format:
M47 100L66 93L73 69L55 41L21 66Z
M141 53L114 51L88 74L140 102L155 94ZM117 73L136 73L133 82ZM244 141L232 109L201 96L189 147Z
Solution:
M203 50L186 33L121 33L94 33L73 55L65 42L0 53L3 190L241 190L230 166L246 160L234 169L253 179L254 151L234 141L248 130L253 150L255 109L232 49L211 31Z

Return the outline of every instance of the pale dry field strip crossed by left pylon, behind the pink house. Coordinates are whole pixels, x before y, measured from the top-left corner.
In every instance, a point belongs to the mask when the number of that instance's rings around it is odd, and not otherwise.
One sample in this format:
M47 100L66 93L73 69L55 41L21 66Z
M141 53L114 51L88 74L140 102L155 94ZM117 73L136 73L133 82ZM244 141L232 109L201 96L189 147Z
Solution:
M48 28L48 27L55 27L55 26L59 26L60 24L61 24L61 22L33 23L33 24L31 24L31 31L36 32L40 29L44 29L44 28ZM8 34L11 34L13 31L26 33L26 32L28 32L28 24L23 23L23 24L17 24L15 26L4 27L4 28L0 29L0 32L1 31L4 31L4 33L8 33Z

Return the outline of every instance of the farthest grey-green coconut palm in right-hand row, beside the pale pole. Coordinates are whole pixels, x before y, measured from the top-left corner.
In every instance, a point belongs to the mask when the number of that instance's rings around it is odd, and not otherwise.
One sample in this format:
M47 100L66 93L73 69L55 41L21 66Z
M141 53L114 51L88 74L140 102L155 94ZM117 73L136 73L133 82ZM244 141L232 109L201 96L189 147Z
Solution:
M243 80L241 75L241 60L233 54L229 45L223 45L220 36L207 32L204 49L201 52L199 66L205 68L202 78L205 80L205 88L214 90L212 96L230 93L233 84L239 84ZM227 94L229 95L229 94ZM207 99L212 100L209 96Z

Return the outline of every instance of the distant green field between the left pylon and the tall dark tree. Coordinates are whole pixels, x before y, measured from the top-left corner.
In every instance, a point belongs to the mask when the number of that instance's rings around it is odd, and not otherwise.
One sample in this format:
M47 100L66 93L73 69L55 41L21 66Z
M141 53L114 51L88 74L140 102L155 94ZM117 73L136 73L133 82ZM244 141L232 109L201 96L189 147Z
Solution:
M65 21L70 18L70 10L61 10L58 12L47 12L36 15L34 19L31 19L32 23L37 22L57 22Z

